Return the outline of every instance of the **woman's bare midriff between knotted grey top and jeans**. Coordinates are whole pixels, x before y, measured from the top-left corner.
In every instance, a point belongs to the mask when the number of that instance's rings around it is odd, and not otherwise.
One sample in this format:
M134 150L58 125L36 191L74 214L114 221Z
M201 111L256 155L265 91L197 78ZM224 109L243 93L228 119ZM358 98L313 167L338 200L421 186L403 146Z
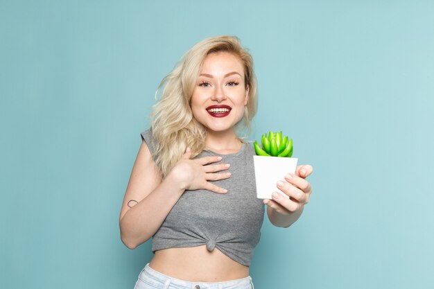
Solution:
M249 276L248 266L242 265L206 245L157 250L149 263L153 270L185 281L223 282Z

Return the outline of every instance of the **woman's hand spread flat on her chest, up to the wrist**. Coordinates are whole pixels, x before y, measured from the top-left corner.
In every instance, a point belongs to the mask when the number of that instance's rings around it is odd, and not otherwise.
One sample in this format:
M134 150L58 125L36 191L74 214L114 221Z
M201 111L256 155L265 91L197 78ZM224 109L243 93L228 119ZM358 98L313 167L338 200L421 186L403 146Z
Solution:
M227 193L226 189L220 188L209 181L227 179L231 173L217 173L221 170L227 170L229 164L213 164L221 161L222 157L211 156L201 157L200 159L190 159L191 149L187 148L181 159L177 162L171 173L173 177L180 182L184 190L205 189L215 193Z

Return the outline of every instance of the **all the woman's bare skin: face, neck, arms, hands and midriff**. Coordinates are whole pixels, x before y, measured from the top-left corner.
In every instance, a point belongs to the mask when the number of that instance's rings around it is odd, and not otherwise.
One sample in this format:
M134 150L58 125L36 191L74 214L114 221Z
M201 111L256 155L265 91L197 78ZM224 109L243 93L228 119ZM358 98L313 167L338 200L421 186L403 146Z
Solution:
M207 128L205 146L223 155L238 152L242 143L236 137L234 125L243 117L249 89L244 83L243 64L230 53L211 53L205 58L200 73L191 96L191 110ZM226 117L215 118L206 111L214 104L229 105L232 110ZM220 160L218 156L191 159L191 150L187 148L163 179L143 141L119 217L122 242L134 249L150 239L186 190L226 193L226 189L213 184L215 180L230 177L230 173L225 172L229 164L215 164ZM292 179L284 179L286 184L281 191L292 200L264 200L272 224L288 227L297 220L309 201L311 188L304 178L311 172L311 166L299 166ZM217 248L208 252L206 245L158 250L150 261L150 268L186 281L218 282L249 275L247 266L230 259Z

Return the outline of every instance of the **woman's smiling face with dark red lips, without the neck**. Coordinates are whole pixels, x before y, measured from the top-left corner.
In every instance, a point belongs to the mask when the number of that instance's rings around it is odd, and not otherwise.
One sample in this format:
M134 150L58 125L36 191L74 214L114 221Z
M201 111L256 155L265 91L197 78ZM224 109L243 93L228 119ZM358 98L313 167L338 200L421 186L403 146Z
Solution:
M234 132L247 102L241 60L227 52L207 55L191 96L194 118L209 132Z

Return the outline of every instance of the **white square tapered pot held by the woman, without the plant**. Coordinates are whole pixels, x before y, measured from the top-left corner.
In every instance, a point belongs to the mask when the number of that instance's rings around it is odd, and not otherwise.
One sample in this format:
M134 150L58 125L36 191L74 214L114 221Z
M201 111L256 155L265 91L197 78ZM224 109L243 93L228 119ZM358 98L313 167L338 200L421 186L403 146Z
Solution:
M257 198L271 200L271 194L278 192L289 198L277 188L279 180L285 180L287 173L295 173L298 158L296 157L262 157L253 156L254 177L257 184Z

